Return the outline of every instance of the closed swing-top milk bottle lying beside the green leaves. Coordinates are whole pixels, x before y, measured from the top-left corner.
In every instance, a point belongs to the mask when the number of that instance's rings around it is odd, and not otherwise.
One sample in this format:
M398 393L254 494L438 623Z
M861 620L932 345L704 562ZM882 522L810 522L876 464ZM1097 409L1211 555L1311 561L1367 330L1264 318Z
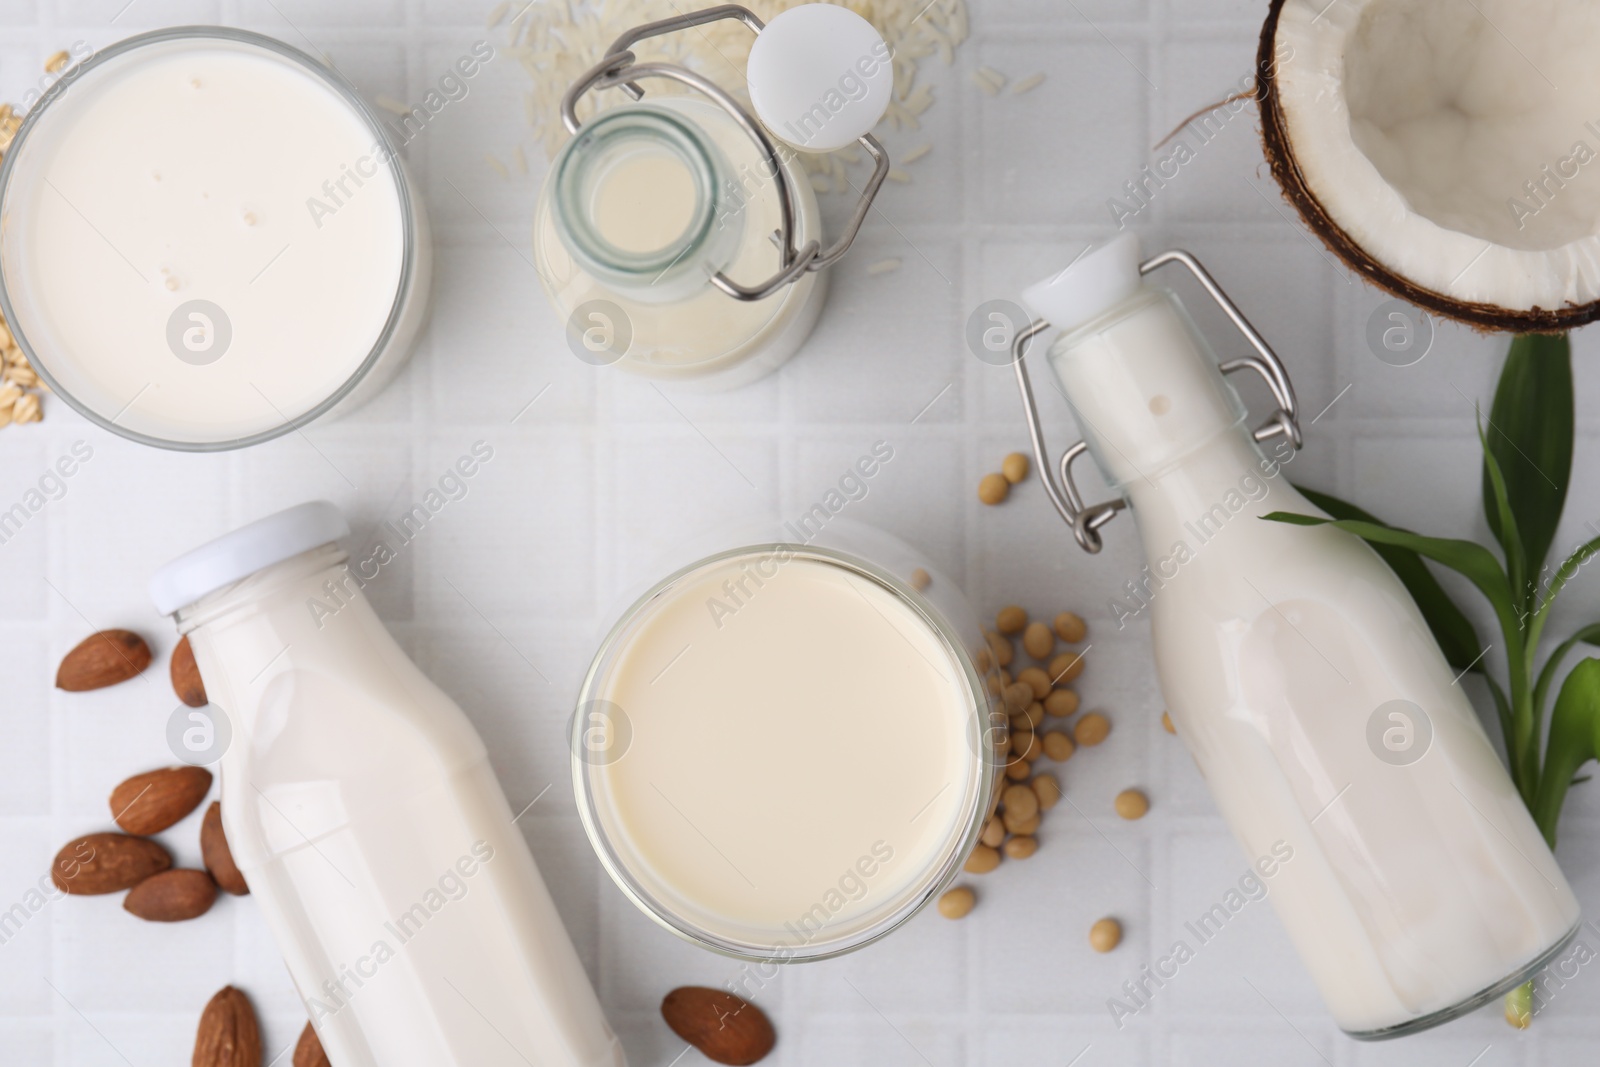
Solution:
M1179 299L1144 280L1165 264L1187 267L1254 354L1219 366ZM1042 320L1016 352L1059 331L1046 360L1085 437L1054 474L1019 358L1051 501L1091 552L1118 510L1136 518L1147 565L1112 614L1149 621L1178 734L1334 1019L1394 1037L1526 981L1576 933L1578 902L1394 571L1331 526L1262 522L1320 514L1283 474L1299 429L1270 347L1192 256L1141 264L1131 235L1024 301ZM1256 430L1224 378L1237 370L1278 402ZM1085 453L1118 499L1083 502ZM1232 910L1181 941L1198 949Z

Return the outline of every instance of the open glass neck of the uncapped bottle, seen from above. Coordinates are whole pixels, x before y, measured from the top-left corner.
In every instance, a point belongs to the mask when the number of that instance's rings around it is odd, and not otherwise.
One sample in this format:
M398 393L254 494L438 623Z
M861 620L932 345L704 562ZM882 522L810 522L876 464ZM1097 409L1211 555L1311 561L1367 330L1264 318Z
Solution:
M726 203L730 166L685 109L632 104L590 118L550 181L568 253L638 302L690 299L739 251L744 214Z

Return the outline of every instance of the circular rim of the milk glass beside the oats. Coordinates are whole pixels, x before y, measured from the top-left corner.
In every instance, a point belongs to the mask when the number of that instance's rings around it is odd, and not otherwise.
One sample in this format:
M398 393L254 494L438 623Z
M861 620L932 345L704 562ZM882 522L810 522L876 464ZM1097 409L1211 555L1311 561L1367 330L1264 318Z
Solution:
M117 437L136 442L139 445L149 445L152 448L165 448L170 451L182 453L221 453L232 451L235 448L250 448L251 445L259 445L262 442L270 442L274 438L283 437L285 434L293 434L294 430L304 429L310 422L315 422L328 411L331 411L341 400L349 397L357 386L360 386L371 370L378 365L378 360L387 352L395 333L400 328L400 320L406 309L406 301L411 296L411 283L416 275L416 254L418 254L418 232L416 232L416 198L411 189L411 182L406 176L406 170L402 165L398 149L394 139L389 136L387 126L378 118L378 114L362 99L355 86L338 70L323 64L315 56L310 56L290 43L285 43L275 37L266 34L256 34L254 30L234 29L230 26L171 26L166 29L146 30L144 34L134 34L125 37L120 42L106 45L104 48L94 50L88 59L77 62L62 74L45 94L40 96L32 107L27 109L27 115L22 118L22 125L18 128L16 136L11 141L11 147L5 150L5 160L0 162L0 222L5 219L6 200L11 192L11 173L16 166L18 158L21 158L22 146L35 126L46 122L45 115L50 114L51 106L61 99L77 80L82 78L90 70L117 59L131 51L150 45L162 45L168 42L179 40L221 40L234 45L250 45L261 48L262 51L274 53L280 59L286 59L309 75L318 78L326 85L336 96L339 96L355 115L366 125L368 131L376 138L376 142L384 147L389 155L386 163L395 182L395 194L400 200L400 278L395 285L395 298L389 307L389 318L384 322L382 330L378 333L378 339L373 342L371 350L366 358L350 373L350 376L339 384L325 400L306 410L304 413L285 419L282 424L259 430L256 434L248 434L245 437L235 437L227 440L203 440L203 442L182 442L166 437L157 437L154 434L144 434L139 430L131 430L128 427L117 426L115 418L107 418L99 411L93 410L86 402L75 397L70 390L62 389L56 376L50 373L48 360L38 357L38 350L27 339L26 331L18 322L16 310L11 306L11 291L5 278L5 259L0 258L0 314L5 315L6 326L10 326L11 336L22 355L27 358L29 365L38 373L40 379L50 387L50 390L59 397L69 408L82 414L85 419L93 422L102 430L109 430Z

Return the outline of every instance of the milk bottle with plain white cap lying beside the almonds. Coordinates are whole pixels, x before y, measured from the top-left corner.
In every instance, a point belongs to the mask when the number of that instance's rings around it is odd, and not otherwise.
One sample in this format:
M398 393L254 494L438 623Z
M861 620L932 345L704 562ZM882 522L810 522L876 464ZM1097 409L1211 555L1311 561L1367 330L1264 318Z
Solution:
M483 742L373 613L349 533L301 504L150 581L229 725L222 825L328 1059L626 1067Z

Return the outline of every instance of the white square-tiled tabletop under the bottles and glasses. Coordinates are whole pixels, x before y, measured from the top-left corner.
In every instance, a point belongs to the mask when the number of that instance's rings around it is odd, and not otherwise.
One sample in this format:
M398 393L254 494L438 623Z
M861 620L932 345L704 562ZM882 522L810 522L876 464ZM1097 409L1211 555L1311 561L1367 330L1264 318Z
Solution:
M325 51L363 91L411 101L485 37L491 6L134 0L118 14L125 3L3 0L0 99L19 99L43 58L74 40L101 45L154 26L221 21ZM1139 565L1126 525L1114 523L1107 550L1090 558L1037 480L1002 509L978 506L979 475L1026 438L1008 371L965 352L962 323L979 301L1014 298L1061 266L1080 246L1074 242L1110 232L1106 200L1152 158L1149 146L1248 74L1264 5L971 6L974 35L957 67L926 69L939 102L925 131L888 138L891 150L933 139L934 152L915 165L915 184L886 187L882 213L838 267L810 347L755 387L672 394L674 408L650 386L568 354L525 259L538 176L502 179L483 162L486 150L507 158L518 142L536 157L523 128L523 75L498 59L408 150L434 219L435 312L416 358L376 403L304 437L227 456L142 450L86 427L58 402L42 426L0 432L5 504L75 440L94 448L67 494L0 545L0 910L46 870L56 846L107 824L114 782L170 760L165 672L67 696L51 689L67 648L91 627L125 625L146 633L165 665L173 637L144 593L155 566L312 498L338 501L365 528L408 507L483 440L494 459L470 494L386 568L373 595L485 734L514 806L550 787L520 825L632 1062L664 1067L683 1046L656 1014L662 993L688 982L718 985L736 965L637 913L600 872L578 824L562 728L598 613L654 545L725 517L795 514L883 438L896 459L853 515L923 545L989 609L1019 600L1035 613L1082 611L1096 635L1082 693L1115 728L1062 771L1093 825L1058 808L1038 856L984 880L971 918L918 917L877 947L786 971L763 989L758 1000L781 1035L770 1062L1592 1061L1600 1048L1594 965L1528 1033L1507 1029L1496 1006L1403 1043L1347 1041L1264 904L1205 945L1147 1011L1122 1030L1112 1024L1107 998L1222 894L1243 859L1181 745L1162 733L1147 633L1110 624L1106 601ZM989 99L966 80L978 64L1014 77L1046 70L1050 80L1029 96ZM830 210L837 218L845 206ZM1363 330L1381 298L1288 218L1261 165L1253 110L1202 147L1136 226L1149 248L1182 245L1213 269L1285 357L1307 422L1338 398L1307 426L1291 477L1398 523L1485 534L1472 402L1488 400L1504 341L1446 328L1422 363L1379 363ZM898 272L866 272L890 256L904 261ZM1232 344L1218 317L1205 322L1219 347ZM1578 486L1562 544L1600 512L1595 347L1592 336L1578 339ZM1070 421L1048 387L1043 394L1056 443L1066 443ZM1568 592L1558 614L1557 629L1600 614L1592 576ZM1488 632L1486 617L1480 627ZM1154 808L1122 824L1110 798L1131 784L1149 790ZM1595 784L1574 789L1560 848L1590 905L1600 902L1597 792ZM179 862L198 862L197 829L198 816L163 835ZM1104 913L1122 917L1126 939L1101 957L1085 934ZM1595 944L1592 931L1584 937ZM258 1005L269 1056L293 1041L304 1014L248 897L173 926L133 920L117 897L51 904L0 945L0 1064L187 1062L198 1009L226 982ZM677 1062L701 1061L691 1053Z

